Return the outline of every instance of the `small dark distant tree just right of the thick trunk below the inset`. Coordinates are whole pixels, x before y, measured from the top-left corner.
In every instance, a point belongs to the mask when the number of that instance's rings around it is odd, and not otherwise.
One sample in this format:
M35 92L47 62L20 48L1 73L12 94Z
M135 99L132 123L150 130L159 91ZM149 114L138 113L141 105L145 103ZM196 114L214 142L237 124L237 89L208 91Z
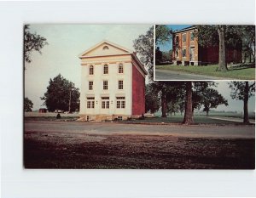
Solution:
M203 110L207 112L207 116L209 115L210 109L217 108L218 105L228 105L228 101L214 88L206 88L202 95Z

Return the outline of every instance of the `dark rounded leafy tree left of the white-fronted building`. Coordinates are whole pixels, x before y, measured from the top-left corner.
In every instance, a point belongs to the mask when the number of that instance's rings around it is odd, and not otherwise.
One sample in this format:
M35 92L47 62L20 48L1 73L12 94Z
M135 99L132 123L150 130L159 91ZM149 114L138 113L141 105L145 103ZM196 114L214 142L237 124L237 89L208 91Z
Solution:
M65 110L73 112L79 109L79 88L74 87L73 82L69 82L61 74L49 79L47 92L44 93L44 105L49 111Z

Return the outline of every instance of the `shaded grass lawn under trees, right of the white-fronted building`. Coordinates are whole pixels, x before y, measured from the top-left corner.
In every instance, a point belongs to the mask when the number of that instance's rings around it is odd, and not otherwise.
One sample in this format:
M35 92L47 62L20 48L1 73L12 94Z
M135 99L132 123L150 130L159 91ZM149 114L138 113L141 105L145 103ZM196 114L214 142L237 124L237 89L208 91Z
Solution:
M146 117L144 120L135 120L135 121L124 121L124 122L151 122L151 123L182 123L183 122L183 116L177 115L177 116L169 116L169 117L152 117L148 118ZM222 121L222 120L216 120L212 119L207 116L194 116L194 123L195 124L217 124L217 125L225 125L225 124L242 124L242 122L232 122L232 121Z

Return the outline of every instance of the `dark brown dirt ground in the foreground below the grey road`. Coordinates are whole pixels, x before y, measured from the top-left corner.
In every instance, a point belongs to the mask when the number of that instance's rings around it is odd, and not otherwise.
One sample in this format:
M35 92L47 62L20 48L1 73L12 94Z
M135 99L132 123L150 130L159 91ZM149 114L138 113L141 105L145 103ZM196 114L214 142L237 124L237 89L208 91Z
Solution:
M254 169L255 139L26 131L26 168Z

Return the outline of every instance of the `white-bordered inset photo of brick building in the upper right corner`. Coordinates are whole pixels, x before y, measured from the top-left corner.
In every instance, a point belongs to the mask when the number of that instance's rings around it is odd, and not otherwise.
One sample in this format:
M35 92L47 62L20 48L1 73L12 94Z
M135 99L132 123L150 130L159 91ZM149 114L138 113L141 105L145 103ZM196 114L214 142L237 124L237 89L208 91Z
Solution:
M155 25L154 80L255 80L255 25Z

